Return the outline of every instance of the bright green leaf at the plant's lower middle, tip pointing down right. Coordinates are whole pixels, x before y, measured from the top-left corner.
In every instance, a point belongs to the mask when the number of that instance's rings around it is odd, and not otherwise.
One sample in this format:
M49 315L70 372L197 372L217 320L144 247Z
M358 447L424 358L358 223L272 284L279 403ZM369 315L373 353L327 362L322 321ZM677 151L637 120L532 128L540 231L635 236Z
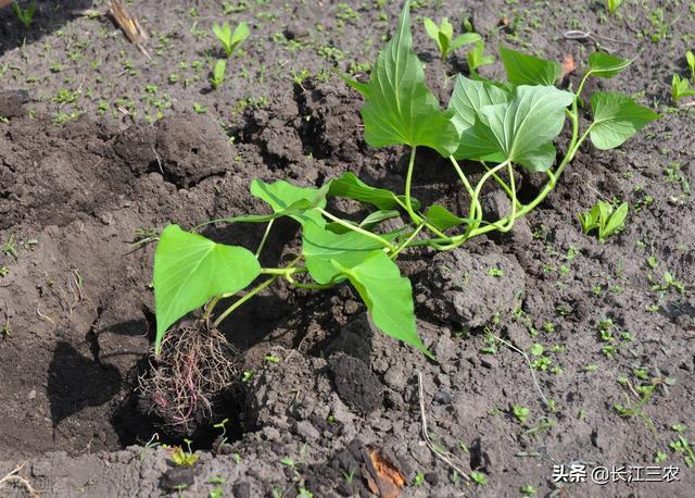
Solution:
M375 252L352 267L338 261L332 264L357 289L381 332L434 359L417 334L410 281L401 276L399 266L387 254Z

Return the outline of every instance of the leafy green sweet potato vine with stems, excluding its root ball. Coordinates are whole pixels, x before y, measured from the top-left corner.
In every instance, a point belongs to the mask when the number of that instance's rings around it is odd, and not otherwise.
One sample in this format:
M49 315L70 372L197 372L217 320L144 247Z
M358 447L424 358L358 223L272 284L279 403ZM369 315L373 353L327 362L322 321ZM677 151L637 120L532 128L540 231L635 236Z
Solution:
M368 83L345 78L365 98L362 117L367 144L409 149L404 191L367 185L352 173L320 188L282 179L270 184L255 179L251 194L267 202L273 214L207 222L267 224L261 247L255 250L216 244L195 231L167 226L154 254L155 353L167 329L187 313L204 307L205 326L217 327L253 296L285 279L309 289L351 284L379 329L431 357L418 336L410 282L401 275L397 257L413 247L444 251L482 234L508 232L516 220L547 197L584 140L589 138L598 149L612 149L658 117L619 94L582 96L589 78L614 77L629 66L629 60L592 53L589 70L572 91L555 86L561 73L556 62L508 48L502 48L500 55L506 82L478 74L472 78L458 75L448 107L442 109L426 86L422 63L413 49L406 0L397 29L379 54ZM591 107L593 121L582 129L580 108L584 102ZM568 120L571 137L558 158L553 141ZM422 148L435 150L454 169L469 198L467 213L422 206L412 196L416 155ZM467 174L470 162L484 167L477 182ZM545 177L535 198L526 203L517 197L517 169ZM480 202L489 183L503 189L510 203L509 214L494 222L483 221ZM327 209L331 198L358 201L369 214L359 223L341 219ZM288 265L262 267L258 254L279 217L291 217L301 226L301 252ZM383 221L394 217L403 219L402 228L381 229ZM217 312L220 301L243 289L243 297Z

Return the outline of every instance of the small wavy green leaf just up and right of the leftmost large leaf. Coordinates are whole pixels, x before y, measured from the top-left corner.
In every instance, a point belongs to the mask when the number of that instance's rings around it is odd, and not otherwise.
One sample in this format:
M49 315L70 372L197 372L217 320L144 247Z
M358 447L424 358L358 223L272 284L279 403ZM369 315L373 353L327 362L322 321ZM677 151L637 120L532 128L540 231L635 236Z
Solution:
M282 215L290 215L302 225L308 221L319 225L325 224L324 216L321 216L321 213L318 212L316 208L323 209L326 207L326 195L329 188L329 184L320 189L298 187L282 179L271 184L266 184L261 179L251 182L251 194L270 204L276 214L283 213ZM296 204L298 201L308 201L311 209L306 209L304 212L296 214L289 213L298 207L301 208L304 206Z

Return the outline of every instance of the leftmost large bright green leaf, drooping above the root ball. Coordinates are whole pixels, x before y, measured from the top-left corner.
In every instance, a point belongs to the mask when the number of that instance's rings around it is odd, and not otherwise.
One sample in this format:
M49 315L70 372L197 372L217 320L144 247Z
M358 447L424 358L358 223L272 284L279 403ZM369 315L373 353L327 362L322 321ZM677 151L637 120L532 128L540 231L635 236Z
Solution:
M155 353L174 322L215 296L243 289L260 273L258 260L243 247L216 244L177 225L164 228L154 251Z

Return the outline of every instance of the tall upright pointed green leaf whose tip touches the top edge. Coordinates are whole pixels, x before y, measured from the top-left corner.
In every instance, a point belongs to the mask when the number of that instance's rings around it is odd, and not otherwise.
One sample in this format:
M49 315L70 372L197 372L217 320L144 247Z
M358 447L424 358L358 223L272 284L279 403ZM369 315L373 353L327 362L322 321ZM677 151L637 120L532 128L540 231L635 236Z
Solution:
M371 147L426 146L447 158L458 134L425 85L422 63L413 50L410 0L406 0L395 35L381 51L362 108L365 139Z

